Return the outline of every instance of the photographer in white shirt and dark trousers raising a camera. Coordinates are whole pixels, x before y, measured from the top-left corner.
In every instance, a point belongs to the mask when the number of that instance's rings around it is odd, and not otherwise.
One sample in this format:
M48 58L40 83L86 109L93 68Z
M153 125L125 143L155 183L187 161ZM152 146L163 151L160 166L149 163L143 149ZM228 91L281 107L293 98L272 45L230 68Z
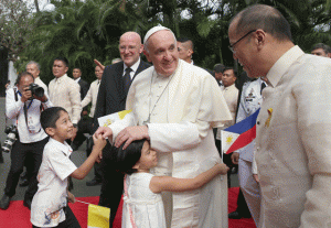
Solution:
M52 102L44 94L36 97L30 90L30 85L34 83L34 77L23 72L18 76L18 89L9 89L6 95L6 116L15 120L18 127L18 140L14 142L11 151L11 166L7 177L4 194L0 200L0 208L7 209L23 172L24 161L33 161L28 165L32 174L29 180L29 187L24 195L23 205L31 207L33 195L38 189L38 171L42 162L44 145L49 141L47 134L41 128L40 115L42 109L52 107Z

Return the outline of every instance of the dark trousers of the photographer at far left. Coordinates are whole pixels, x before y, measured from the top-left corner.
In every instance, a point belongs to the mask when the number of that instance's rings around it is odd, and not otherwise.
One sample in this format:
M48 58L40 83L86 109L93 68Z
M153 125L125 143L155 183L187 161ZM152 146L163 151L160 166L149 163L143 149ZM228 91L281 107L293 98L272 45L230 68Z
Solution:
M19 140L17 140L10 154L11 165L6 182L6 195L9 197L15 195L20 175L23 172L24 162L28 160L29 165L26 165L26 170L29 173L29 187L25 192L24 200L32 200L38 191L36 175L43 159L43 150L47 142L49 137L39 142L32 143L21 143Z

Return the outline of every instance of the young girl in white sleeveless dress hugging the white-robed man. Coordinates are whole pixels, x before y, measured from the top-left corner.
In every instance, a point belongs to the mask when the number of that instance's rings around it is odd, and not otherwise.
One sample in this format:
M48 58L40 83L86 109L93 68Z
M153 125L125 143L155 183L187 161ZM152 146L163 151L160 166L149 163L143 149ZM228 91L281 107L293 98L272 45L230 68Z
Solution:
M218 174L226 174L225 164L216 164L194 178L154 176L149 170L158 164L157 152L147 140L134 141L126 149L116 149L118 170L126 173L122 228L166 228L161 192L186 192L202 187Z

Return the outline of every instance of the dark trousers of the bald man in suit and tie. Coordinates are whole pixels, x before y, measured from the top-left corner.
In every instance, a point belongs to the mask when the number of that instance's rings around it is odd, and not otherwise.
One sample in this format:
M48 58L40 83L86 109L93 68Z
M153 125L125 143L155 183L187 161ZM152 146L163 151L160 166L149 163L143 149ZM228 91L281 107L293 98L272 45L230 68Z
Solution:
M102 172L103 185L99 205L110 208L109 227L113 227L118 205L124 191L124 174L116 171L114 154L110 153L111 145L107 143L103 151Z

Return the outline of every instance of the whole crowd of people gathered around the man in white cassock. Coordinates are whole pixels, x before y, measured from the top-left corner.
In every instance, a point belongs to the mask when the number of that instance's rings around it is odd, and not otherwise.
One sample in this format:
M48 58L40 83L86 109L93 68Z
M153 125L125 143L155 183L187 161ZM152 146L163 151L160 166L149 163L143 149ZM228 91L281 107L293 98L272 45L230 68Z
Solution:
M57 57L47 87L40 65L29 62L7 88L6 115L18 139L0 208L10 206L25 167L23 205L33 227L79 227L67 206L75 202L71 178L94 166L86 185L102 185L110 227L122 195L126 228L220 228L242 217L260 228L329 227L330 46L303 53L284 15L264 4L237 13L228 39L242 74L196 66L193 42L161 25L142 41L124 33L120 58L108 66L95 59L90 85L79 67L68 77L68 61ZM98 118L122 110L130 112L99 126ZM258 110L256 139L224 154L222 130ZM76 167L70 156L85 140L87 159ZM236 166L241 192L227 214Z

